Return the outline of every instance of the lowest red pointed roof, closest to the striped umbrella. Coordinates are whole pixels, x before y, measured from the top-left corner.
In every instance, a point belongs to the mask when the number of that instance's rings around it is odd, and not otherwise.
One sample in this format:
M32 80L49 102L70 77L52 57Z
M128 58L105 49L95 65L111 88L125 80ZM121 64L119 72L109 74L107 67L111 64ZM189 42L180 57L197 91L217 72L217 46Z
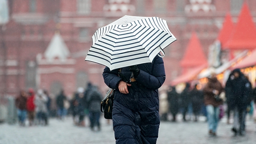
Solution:
M196 67L204 64L207 64L207 59L196 33L193 32L180 65L182 67Z

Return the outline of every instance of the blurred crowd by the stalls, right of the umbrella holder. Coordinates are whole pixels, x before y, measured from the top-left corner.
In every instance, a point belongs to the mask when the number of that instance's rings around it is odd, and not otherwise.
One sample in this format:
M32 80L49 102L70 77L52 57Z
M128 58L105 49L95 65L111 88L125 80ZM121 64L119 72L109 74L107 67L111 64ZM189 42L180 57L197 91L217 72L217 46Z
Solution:
M227 124L230 124L230 113L232 113L234 121L231 131L234 135L245 134L247 114L256 120L255 109L253 114L256 88L252 88L248 77L240 69L230 73L224 86L218 81L216 74L212 73L205 84L186 83L183 87L180 90L179 85L170 86L164 93L166 98L161 100L160 96L161 120L167 121L171 117L171 121L175 122L178 113L182 114L184 122L188 120L196 122L198 116L205 116L205 121L209 125L209 134L212 136L216 136L218 122L225 114L227 114Z

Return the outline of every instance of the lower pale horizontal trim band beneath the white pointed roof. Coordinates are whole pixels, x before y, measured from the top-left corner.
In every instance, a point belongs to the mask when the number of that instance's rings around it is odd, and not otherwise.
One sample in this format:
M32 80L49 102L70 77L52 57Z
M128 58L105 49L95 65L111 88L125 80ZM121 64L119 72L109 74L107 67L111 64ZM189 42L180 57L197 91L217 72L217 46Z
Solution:
M61 68L61 67L38 68L38 74L51 74L51 73L74 74L75 68Z

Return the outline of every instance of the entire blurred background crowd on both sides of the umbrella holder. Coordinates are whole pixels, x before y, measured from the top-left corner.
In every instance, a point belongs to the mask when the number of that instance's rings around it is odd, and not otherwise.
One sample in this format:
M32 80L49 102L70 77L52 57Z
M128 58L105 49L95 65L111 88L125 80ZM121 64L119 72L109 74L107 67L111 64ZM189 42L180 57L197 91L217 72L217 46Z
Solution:
M240 69L230 73L225 85L222 85L213 73L205 84L186 83L182 90L179 85L170 86L165 94L165 100L162 100L160 95L162 121L171 119L175 122L179 113L184 122L197 122L199 116L204 116L209 125L209 134L212 136L216 136L218 122L225 114L227 124L231 123L230 119L233 116L231 131L235 135L245 134L247 114L254 116L256 120L253 104L256 100L256 89L252 88L252 84ZM85 116L88 116L92 131L99 131L102 98L98 87L88 83L86 89L79 87L72 99L66 97L64 90L54 96L45 90L39 89L35 92L30 88L28 92L21 91L15 103L21 126L25 126L26 118L29 126L48 125L49 117L63 120L69 114L73 116L74 125L83 127Z

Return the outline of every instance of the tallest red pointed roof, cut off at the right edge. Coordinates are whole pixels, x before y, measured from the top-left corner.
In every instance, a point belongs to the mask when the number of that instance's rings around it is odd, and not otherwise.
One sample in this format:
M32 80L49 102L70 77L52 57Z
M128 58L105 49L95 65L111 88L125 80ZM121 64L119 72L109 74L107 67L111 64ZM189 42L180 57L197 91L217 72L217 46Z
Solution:
M256 48L256 27L248 4L245 2L239 14L234 32L223 49L241 50Z

